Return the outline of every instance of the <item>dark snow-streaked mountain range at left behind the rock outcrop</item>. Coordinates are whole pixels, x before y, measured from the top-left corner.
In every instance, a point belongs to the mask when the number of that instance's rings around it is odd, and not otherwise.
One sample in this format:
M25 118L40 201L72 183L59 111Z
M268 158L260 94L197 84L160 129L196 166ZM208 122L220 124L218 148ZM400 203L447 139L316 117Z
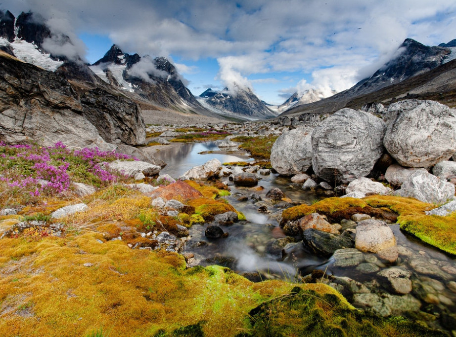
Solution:
M141 58L113 45L103 58L93 65L86 64L78 54L64 53L77 51L70 37L51 32L45 19L35 13L21 13L15 18L9 11L0 11L0 49L23 62L63 75L77 90L102 88L122 92L146 106L206 113L166 58Z

